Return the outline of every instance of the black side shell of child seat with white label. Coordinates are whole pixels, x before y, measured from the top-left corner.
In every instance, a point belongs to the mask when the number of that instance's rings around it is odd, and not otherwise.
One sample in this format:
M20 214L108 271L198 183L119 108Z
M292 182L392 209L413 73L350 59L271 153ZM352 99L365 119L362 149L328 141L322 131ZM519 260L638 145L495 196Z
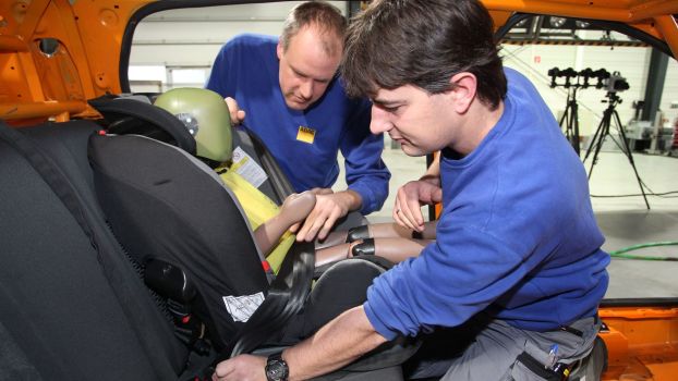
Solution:
M268 288L231 194L187 152L144 136L93 136L89 159L117 236L140 263L162 259L195 280L203 299L195 312L225 348L221 339L232 337L249 316L229 311L222 297L241 298L246 309Z

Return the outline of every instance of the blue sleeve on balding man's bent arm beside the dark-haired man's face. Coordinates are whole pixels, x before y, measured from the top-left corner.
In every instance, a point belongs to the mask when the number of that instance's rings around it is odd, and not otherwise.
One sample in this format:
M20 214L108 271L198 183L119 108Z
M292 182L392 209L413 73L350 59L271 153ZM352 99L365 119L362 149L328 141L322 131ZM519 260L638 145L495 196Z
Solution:
M388 196L388 181L391 176L382 160L384 135L370 133L371 108L370 101L359 101L356 112L348 120L340 147L344 157L347 185L361 196L362 214L382 209Z

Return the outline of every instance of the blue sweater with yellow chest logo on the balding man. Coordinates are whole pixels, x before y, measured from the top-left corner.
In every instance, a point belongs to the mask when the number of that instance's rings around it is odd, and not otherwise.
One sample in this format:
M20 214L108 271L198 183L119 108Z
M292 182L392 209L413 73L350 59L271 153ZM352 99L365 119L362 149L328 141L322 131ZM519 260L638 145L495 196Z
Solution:
M349 189L363 200L361 212L380 209L390 172L380 158L383 135L370 133L372 105L348 99L335 78L308 109L288 108L278 82L277 44L276 37L249 34L231 39L219 51L206 87L233 97L245 110L243 125L266 143L296 192L331 187L341 150ZM315 130L313 144L296 139L300 126Z

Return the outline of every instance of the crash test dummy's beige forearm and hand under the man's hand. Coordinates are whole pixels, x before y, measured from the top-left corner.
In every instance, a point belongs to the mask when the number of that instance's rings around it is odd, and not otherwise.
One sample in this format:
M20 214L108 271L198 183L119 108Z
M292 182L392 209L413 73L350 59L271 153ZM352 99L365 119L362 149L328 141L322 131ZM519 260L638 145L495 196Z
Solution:
M315 195L310 190L288 196L280 207L280 212L254 231L254 238L259 250L267 255L282 234L296 222L303 221L314 206Z

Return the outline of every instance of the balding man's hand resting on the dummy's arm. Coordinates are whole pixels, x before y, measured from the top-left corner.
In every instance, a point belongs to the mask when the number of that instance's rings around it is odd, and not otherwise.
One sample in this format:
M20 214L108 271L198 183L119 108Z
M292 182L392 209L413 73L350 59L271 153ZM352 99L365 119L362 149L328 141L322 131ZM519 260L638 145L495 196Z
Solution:
M362 205L360 195L353 190L332 193L327 188L314 188L316 194L315 207L306 217L301 229L299 224L290 230L296 232L296 241L312 242L316 238L325 239L338 219L351 210L356 210ZM299 229L299 231L298 231Z

